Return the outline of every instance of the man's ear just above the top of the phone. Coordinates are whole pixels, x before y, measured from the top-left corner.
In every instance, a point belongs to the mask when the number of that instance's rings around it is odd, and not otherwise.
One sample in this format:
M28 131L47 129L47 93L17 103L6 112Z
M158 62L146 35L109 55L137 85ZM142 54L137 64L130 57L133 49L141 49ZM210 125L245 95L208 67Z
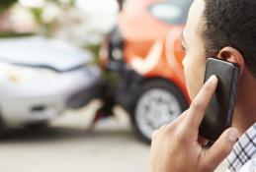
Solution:
M217 54L217 58L238 64L240 67L240 76L243 74L245 68L244 58L237 49L230 46L224 47Z

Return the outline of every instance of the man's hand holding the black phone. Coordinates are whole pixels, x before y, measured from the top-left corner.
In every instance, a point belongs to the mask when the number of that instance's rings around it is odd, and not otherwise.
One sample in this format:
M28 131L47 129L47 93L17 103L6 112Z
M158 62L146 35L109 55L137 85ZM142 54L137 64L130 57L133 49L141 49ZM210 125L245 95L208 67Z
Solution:
M217 79L212 76L187 111L153 133L150 150L152 172L212 172L230 153L238 138L235 128L223 132L208 150L198 142L199 126L216 86Z

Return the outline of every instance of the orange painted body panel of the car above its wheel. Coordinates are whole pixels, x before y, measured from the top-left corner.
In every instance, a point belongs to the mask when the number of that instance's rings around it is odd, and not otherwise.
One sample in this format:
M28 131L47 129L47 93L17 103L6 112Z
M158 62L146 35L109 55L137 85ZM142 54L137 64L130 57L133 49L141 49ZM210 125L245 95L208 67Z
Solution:
M184 51L180 35L184 26L165 24L147 10L141 10L155 2L130 0L128 8L120 14L118 24L124 36L125 61L144 78L172 82L190 103L182 66Z

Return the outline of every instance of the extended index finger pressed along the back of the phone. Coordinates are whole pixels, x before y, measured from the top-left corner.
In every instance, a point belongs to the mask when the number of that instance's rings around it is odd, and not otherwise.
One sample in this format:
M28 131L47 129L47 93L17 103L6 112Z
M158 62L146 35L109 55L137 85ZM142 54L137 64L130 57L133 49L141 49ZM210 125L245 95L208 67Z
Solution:
M212 76L192 101L187 118L190 127L199 128L216 86L217 78Z

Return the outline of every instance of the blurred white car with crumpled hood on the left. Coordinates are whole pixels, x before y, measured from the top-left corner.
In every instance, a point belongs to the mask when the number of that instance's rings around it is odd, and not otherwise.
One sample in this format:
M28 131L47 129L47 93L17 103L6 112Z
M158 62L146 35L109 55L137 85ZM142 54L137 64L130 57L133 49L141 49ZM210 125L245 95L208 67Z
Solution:
M41 36L0 39L1 125L45 124L97 96L100 71L93 56Z

